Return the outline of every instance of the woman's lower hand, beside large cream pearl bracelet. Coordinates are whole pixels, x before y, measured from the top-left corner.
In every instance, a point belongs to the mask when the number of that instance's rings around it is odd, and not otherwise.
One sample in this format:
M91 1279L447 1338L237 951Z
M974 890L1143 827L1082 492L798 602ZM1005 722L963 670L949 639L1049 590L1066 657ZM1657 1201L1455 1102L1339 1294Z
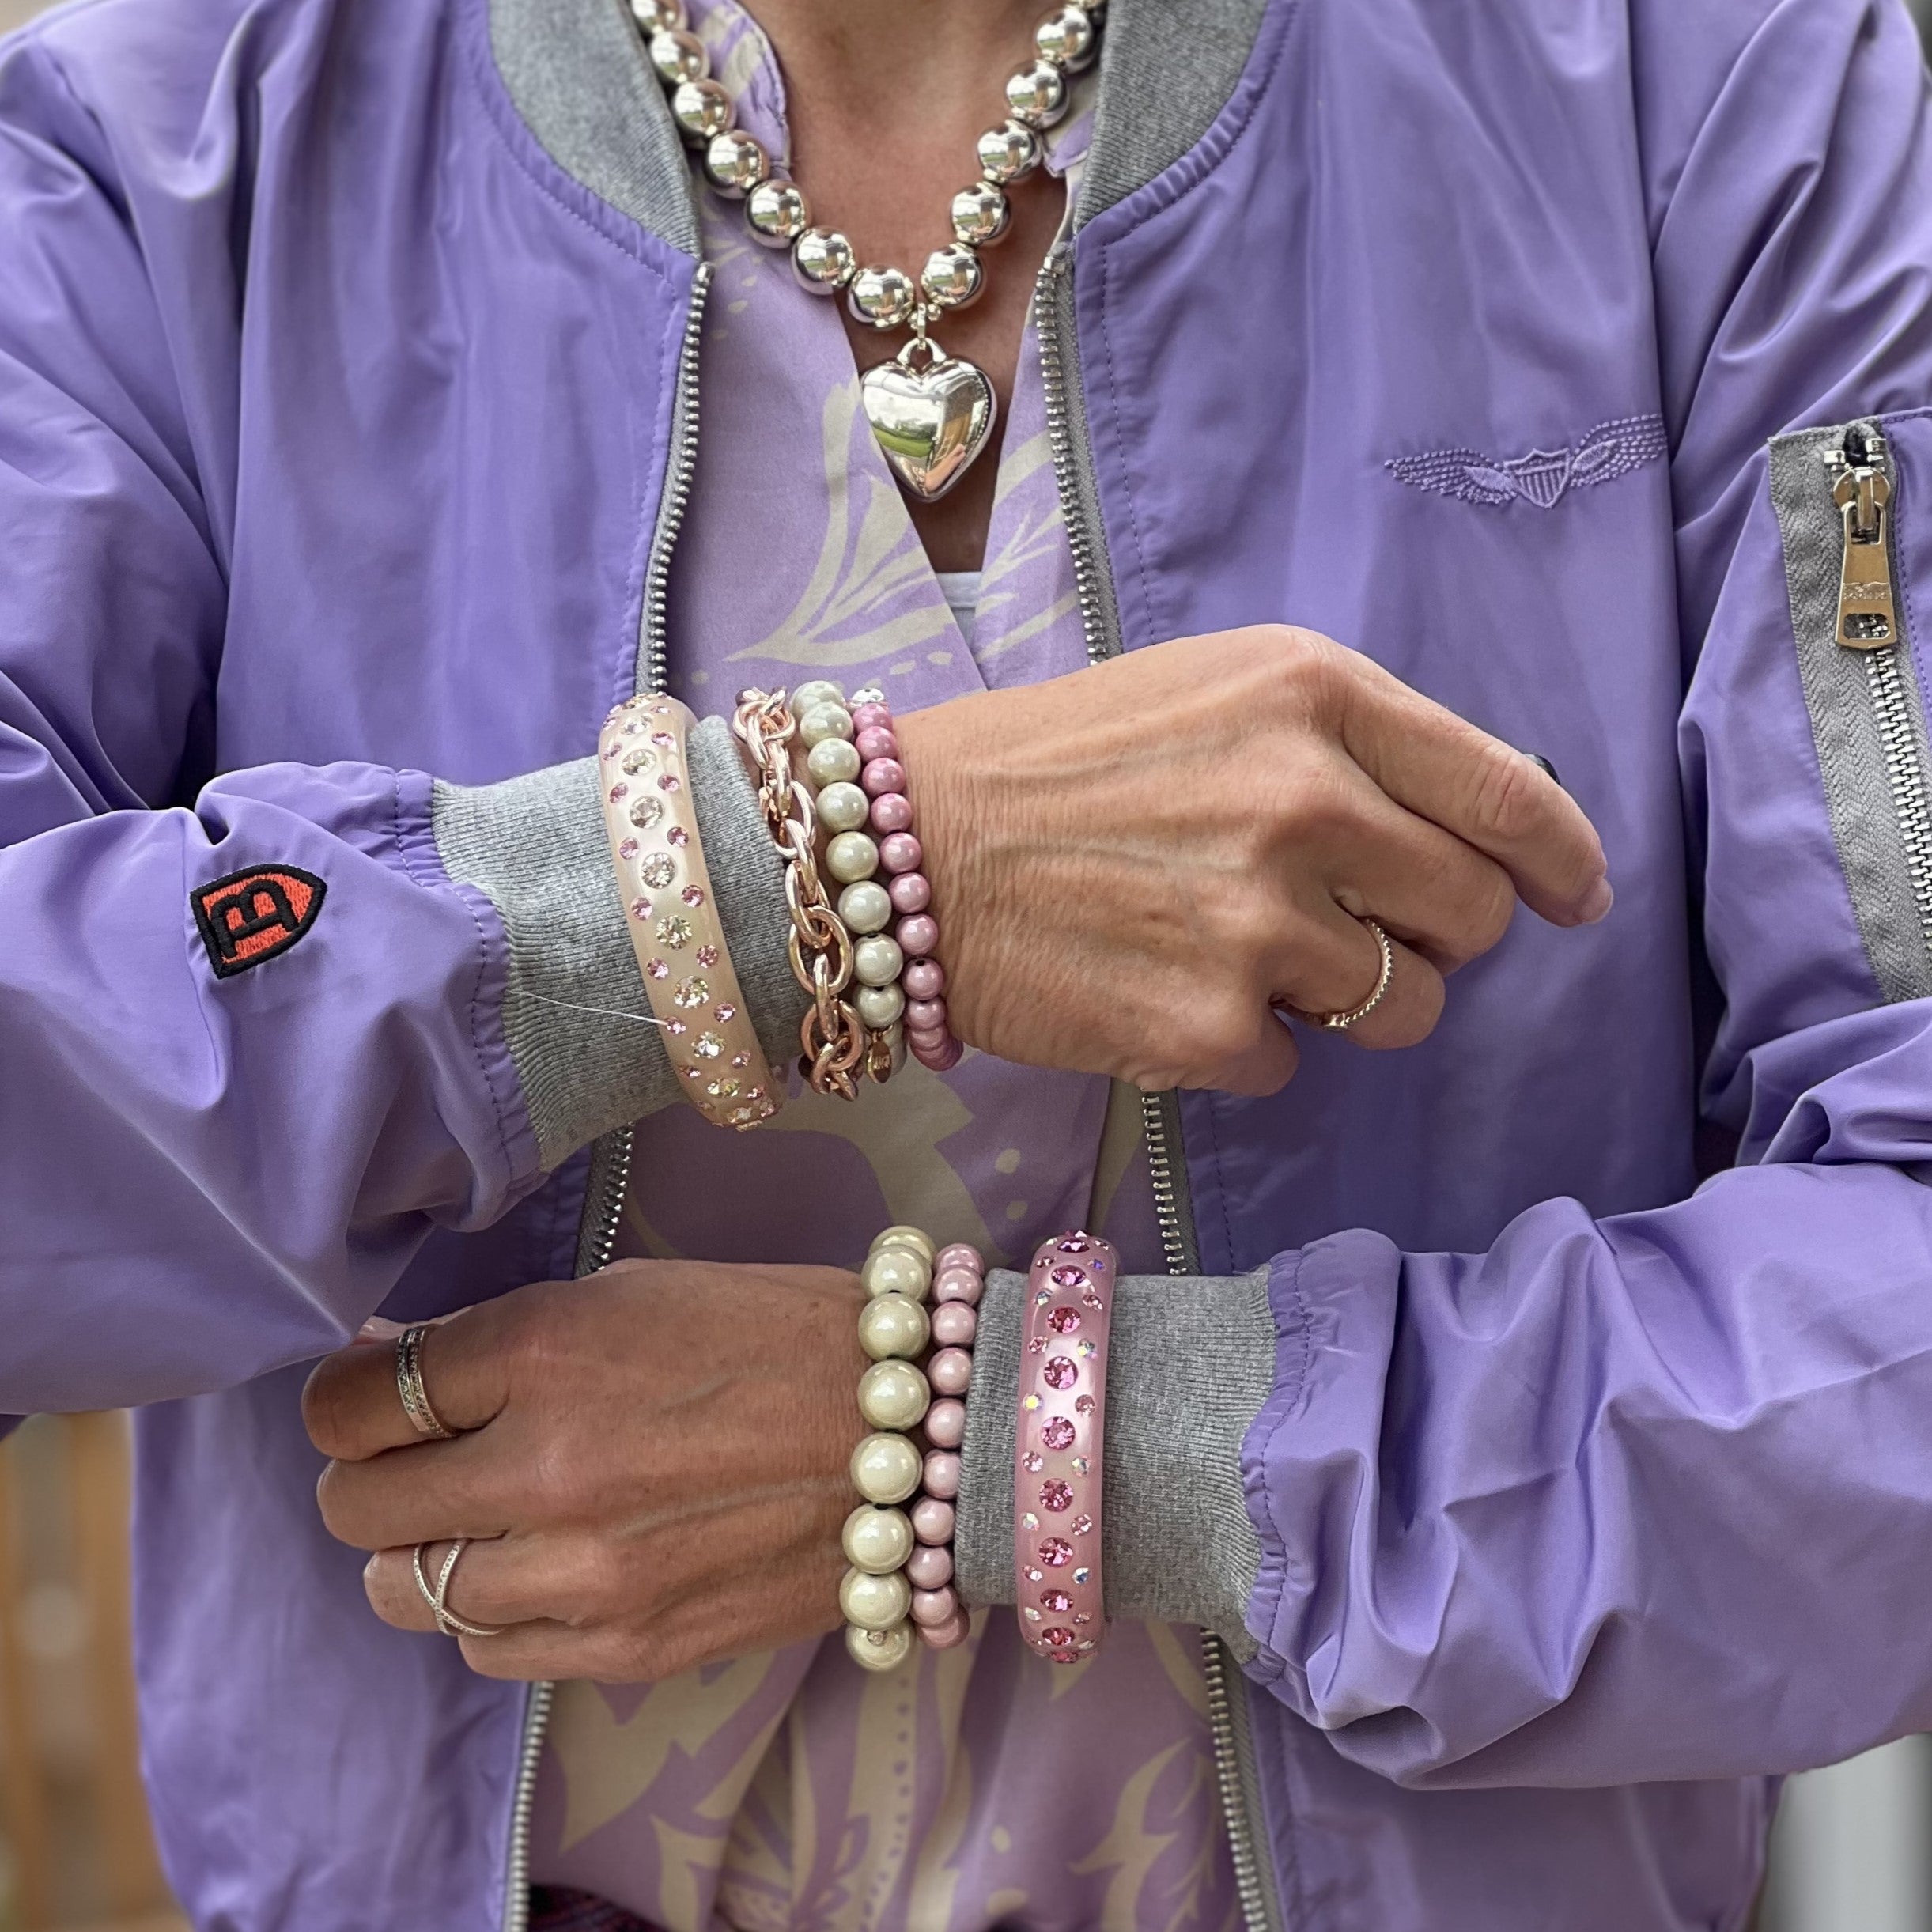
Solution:
M415 1434L392 1345L309 1376L330 1534L373 1549L384 1623L433 1631L435 1582L485 1677L653 1681L838 1627L864 1434L862 1293L831 1267L618 1262L429 1331L423 1385L452 1441Z

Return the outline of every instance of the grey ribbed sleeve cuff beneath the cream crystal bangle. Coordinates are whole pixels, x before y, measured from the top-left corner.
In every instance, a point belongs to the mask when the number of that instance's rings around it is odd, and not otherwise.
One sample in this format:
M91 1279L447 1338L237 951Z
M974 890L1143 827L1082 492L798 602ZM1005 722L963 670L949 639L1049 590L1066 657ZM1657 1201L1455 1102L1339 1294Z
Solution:
M798 1049L806 1003L790 960L784 867L730 724L690 736L692 802L746 1010L773 1066ZM543 1165L678 1099L624 929L597 759L500 784L437 784L442 869L485 893L510 941L502 1030Z

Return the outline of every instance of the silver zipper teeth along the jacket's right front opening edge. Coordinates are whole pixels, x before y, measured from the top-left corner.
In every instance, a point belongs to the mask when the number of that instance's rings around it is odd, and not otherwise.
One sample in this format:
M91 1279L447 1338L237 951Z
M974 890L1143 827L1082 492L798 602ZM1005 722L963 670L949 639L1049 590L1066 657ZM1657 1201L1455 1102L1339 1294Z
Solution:
M1061 522L1066 526L1066 551L1074 564L1074 589L1080 597L1080 632L1086 639L1088 663L1113 657L1113 643L1101 618L1099 553L1094 533L1082 514L1080 491L1074 479L1072 415L1066 408L1066 361L1061 354L1059 315L1053 298L1072 272L1072 257L1057 247L1039 269L1034 284L1034 321L1039 336L1039 377L1047 402L1047 442L1053 450L1053 477L1059 485ZM1928 837L1932 860L1932 837ZM1175 1167L1173 1136L1167 1121L1167 1095L1142 1094L1142 1136L1148 1146L1148 1177L1153 1186L1153 1213L1161 1229L1161 1256L1167 1273L1188 1273L1188 1238L1180 1215L1180 1175ZM1208 1687L1208 1729L1213 1735L1215 1783L1221 1791L1221 1818L1227 1826L1229 1862L1235 1866L1235 1895L1248 1932L1273 1932L1279 1924L1269 1907L1267 1884L1254 1853L1254 1832L1248 1824L1248 1801L1240 1776L1240 1747L1235 1735L1235 1698L1229 1687L1233 1654L1211 1631L1202 1631L1202 1681Z

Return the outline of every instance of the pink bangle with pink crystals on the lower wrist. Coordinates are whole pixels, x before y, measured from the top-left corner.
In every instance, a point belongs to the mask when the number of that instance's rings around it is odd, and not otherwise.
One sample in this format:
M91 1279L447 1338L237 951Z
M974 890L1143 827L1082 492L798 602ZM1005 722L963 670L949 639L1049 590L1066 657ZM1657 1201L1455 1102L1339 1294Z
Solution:
M1034 1250L1012 1464L1012 1569L1020 1634L1053 1663L1099 1646L1101 1451L1107 1333L1121 1265L1113 1244L1072 1229Z

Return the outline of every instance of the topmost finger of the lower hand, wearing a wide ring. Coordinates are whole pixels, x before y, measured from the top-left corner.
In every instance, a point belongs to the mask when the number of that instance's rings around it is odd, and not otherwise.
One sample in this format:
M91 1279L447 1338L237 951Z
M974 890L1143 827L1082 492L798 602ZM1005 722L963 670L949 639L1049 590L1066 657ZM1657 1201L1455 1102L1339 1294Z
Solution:
M514 1296L508 1298L514 1302ZM417 1349L429 1406L448 1430L479 1430L510 1399L506 1329L514 1306L489 1302L431 1325ZM384 1449L429 1443L410 1422L396 1383L396 1345L357 1341L315 1364L301 1420L323 1455L359 1463Z

